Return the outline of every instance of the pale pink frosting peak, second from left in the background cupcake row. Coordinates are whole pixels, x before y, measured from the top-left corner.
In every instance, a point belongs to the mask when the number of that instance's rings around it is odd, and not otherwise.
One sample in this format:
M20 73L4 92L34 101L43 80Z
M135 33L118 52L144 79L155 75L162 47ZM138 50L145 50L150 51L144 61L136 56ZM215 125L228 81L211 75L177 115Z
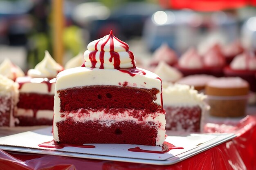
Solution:
M180 57L179 65L184 68L203 68L202 57L195 48L190 48Z

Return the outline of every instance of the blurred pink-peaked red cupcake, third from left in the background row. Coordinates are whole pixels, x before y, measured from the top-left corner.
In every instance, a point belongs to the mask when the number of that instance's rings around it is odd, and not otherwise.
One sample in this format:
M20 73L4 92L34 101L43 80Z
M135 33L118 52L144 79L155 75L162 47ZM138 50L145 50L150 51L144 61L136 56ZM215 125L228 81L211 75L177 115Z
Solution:
M204 66L207 68L208 73L216 77L223 76L223 68L226 64L226 59L222 55L220 46L213 45L203 57Z

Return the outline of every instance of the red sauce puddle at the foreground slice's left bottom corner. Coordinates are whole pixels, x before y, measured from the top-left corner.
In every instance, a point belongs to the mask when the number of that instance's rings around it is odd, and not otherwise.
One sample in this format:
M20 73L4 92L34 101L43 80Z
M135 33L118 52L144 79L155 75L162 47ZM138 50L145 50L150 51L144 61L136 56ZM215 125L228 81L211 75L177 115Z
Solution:
M58 144L56 141L48 141L43 144L39 144L39 147L43 148L55 148L55 149L63 149L64 147L71 146L77 148L95 148L93 145L75 145L75 144Z

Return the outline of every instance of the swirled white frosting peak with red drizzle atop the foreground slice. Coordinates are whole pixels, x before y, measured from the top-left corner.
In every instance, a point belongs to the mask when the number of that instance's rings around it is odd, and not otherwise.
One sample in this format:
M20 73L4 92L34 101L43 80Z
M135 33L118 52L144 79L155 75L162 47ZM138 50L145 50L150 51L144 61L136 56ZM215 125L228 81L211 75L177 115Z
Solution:
M136 68L134 55L125 42L116 38L112 30L109 35L90 42L83 57L84 66L91 68Z

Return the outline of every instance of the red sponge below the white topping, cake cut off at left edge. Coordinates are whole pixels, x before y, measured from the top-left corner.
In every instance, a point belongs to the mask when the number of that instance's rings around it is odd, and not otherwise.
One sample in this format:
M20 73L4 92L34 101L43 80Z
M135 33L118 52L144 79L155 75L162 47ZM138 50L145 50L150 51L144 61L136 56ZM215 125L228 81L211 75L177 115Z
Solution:
M12 101L10 97L0 96L0 126L10 126L12 114Z

